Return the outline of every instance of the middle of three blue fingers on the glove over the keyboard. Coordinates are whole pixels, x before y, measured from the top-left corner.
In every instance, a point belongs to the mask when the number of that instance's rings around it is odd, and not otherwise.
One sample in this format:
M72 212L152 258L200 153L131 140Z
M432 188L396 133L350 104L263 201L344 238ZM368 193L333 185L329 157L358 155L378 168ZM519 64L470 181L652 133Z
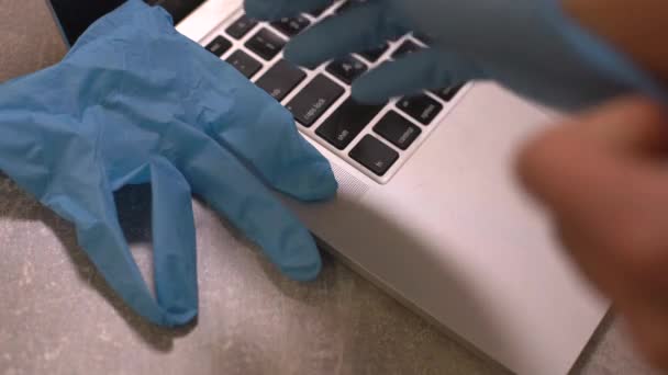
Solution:
M294 64L313 67L349 53L376 48L407 31L383 2L361 4L296 36L286 46L285 56Z

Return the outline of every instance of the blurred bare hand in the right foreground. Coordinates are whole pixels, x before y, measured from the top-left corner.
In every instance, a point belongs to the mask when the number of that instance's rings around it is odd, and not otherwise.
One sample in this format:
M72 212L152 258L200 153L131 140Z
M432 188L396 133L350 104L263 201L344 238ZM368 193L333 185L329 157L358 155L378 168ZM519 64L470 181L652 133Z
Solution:
M668 370L668 113L625 98L531 141L520 175L641 351Z

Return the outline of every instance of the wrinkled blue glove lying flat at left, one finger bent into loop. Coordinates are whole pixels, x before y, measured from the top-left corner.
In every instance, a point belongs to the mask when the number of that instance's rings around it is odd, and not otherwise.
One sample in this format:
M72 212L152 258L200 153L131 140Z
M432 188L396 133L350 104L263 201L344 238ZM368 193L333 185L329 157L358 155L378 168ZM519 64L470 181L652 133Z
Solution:
M286 110L140 0L99 20L57 66L0 87L0 170L74 223L109 285L164 326L197 315L191 190L304 281L321 269L314 241L260 181L303 201L336 191ZM140 183L153 191L155 299L113 200Z

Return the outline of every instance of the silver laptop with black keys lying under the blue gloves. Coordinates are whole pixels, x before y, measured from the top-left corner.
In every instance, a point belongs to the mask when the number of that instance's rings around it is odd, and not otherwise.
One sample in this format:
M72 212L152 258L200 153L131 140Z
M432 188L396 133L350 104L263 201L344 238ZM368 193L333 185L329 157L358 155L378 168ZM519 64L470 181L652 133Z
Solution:
M122 0L51 2L71 43ZM355 105L352 80L428 41L405 35L313 70L281 59L290 37L355 5L345 1L274 23L247 19L242 0L153 2L288 107L331 160L335 201L286 201L324 248L512 372L571 368L609 304L579 276L513 173L515 151L555 114L492 83Z

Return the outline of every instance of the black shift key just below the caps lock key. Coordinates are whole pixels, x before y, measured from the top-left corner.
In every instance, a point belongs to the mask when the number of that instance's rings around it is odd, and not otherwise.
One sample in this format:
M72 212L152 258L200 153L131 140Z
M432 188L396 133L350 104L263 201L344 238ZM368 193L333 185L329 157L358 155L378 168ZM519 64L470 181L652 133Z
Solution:
M346 148L355 137L382 110L382 105L363 105L348 99L315 132L339 150Z

